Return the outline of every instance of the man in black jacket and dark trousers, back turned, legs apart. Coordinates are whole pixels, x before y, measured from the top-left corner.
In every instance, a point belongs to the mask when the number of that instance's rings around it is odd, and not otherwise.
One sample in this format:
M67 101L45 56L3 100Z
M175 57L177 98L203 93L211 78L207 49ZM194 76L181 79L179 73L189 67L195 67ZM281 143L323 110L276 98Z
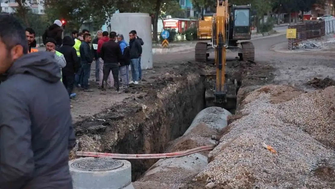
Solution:
M114 77L115 90L120 91L119 81L119 62L122 60L122 52L116 40L116 33L111 32L109 34L110 40L105 42L101 48L101 58L104 60L104 78L102 83L102 89L106 90L107 79L109 73L112 71Z

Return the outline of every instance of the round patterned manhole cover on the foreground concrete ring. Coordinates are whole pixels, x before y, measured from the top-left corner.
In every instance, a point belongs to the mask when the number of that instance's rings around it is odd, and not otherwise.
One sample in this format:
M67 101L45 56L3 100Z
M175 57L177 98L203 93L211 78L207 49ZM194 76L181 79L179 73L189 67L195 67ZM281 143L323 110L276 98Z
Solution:
M110 171L122 166L122 161L112 158L79 159L71 164L72 168L82 171Z

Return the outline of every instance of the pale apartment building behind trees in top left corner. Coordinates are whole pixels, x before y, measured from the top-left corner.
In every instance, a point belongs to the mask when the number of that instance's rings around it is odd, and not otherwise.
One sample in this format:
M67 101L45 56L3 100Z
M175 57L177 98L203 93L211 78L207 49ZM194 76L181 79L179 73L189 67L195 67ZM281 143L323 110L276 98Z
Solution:
M0 0L2 12L14 13L18 4L16 0ZM44 14L44 4L42 0L27 0L27 5L34 14Z

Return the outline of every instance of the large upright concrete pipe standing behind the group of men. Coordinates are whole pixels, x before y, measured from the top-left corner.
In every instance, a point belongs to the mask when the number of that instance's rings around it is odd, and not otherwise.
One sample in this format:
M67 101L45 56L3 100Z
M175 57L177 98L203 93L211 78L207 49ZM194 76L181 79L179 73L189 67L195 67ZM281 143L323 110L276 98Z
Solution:
M129 42L129 32L136 30L144 45L141 56L141 68L152 68L152 31L151 17L147 13L115 13L111 17L111 29L117 34L123 34Z

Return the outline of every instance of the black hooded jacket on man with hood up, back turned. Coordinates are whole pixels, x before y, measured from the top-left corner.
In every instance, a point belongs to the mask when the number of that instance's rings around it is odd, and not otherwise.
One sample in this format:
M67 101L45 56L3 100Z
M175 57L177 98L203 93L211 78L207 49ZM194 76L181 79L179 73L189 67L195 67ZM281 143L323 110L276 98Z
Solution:
M62 69L63 74L77 73L80 67L79 57L77 56L76 49L73 48L74 40L70 36L63 38L63 46L58 49L58 52L64 55L66 66Z

